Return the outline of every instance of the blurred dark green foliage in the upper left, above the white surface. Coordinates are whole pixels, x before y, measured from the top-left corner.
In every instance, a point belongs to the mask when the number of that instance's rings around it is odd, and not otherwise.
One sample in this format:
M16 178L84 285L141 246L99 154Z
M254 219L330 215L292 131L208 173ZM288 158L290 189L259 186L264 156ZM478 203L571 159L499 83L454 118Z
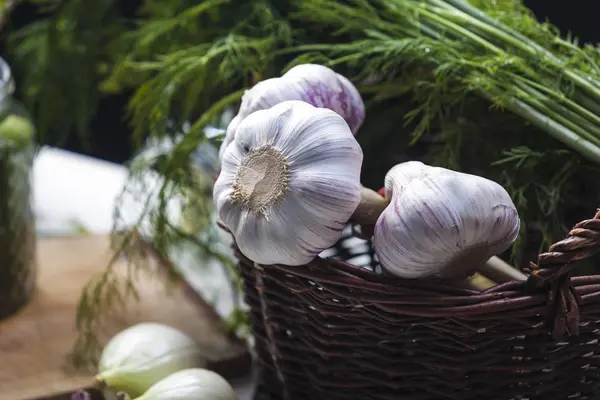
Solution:
M19 97L44 143L60 146L70 133L87 144L108 60L105 42L125 28L115 0L34 0L48 17L11 32L7 58L22 76Z

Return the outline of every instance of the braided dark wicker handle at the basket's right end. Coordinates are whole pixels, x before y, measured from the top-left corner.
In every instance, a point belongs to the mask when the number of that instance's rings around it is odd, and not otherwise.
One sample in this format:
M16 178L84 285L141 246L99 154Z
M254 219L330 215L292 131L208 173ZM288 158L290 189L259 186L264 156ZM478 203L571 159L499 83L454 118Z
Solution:
M571 272L577 261L600 251L600 209L592 219L579 222L567 237L539 255L538 262L531 263L527 286L548 290L547 324L556 340L565 335L579 334L579 304L581 298L571 282Z

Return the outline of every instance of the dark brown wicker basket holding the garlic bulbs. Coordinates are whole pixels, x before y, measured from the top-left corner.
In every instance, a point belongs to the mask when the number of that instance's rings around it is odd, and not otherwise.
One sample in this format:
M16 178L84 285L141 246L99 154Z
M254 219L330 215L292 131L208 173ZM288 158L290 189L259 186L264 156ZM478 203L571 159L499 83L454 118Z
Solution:
M237 248L260 365L255 400L600 398L600 211L482 293L373 271L346 232L327 258L257 265Z

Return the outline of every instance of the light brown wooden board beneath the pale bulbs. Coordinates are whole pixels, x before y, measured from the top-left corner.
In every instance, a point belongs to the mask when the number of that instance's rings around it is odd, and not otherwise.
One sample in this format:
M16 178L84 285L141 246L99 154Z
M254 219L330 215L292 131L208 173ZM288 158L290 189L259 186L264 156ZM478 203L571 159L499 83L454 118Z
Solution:
M37 290L29 304L0 322L0 400L48 399L89 387L94 371L75 371L67 355L77 338L76 307L82 289L110 259L108 238L80 236L38 241ZM141 301L132 301L103 323L103 343L144 321L171 325L194 338L209 368L226 377L246 373L246 346L224 333L222 321L185 283L167 292L150 274L139 275Z

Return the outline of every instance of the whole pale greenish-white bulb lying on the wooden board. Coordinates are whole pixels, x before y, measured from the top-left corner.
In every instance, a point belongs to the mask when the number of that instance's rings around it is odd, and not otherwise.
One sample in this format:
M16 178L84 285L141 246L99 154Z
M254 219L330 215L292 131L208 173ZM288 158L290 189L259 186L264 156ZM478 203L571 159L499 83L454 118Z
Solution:
M170 326L147 322L121 331L108 342L96 381L138 396L173 372L202 366L200 349L192 339Z

